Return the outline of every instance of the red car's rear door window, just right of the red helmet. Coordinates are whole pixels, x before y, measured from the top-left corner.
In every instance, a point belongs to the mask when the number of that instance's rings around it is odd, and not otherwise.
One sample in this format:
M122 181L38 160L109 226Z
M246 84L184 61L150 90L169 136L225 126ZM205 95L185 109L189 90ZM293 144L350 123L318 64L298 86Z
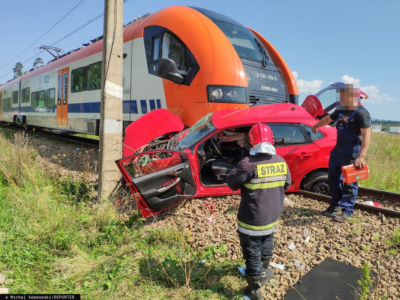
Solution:
M270 125L274 132L275 147L305 144L306 138L298 126Z

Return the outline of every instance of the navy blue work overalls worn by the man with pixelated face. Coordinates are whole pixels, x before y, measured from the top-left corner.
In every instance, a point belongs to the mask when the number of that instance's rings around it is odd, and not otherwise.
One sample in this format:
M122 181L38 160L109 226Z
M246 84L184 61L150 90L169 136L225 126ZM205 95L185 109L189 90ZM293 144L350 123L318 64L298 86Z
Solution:
M361 108L365 109L365 108ZM332 200L331 208L342 208L342 212L351 216L354 212L354 203L357 198L358 181L353 183L342 182L342 166L353 164L360 153L360 139L351 132L348 125L354 119L358 110L348 118L347 122L343 114L338 111L338 123L336 125L336 145L330 152L328 168L328 184Z

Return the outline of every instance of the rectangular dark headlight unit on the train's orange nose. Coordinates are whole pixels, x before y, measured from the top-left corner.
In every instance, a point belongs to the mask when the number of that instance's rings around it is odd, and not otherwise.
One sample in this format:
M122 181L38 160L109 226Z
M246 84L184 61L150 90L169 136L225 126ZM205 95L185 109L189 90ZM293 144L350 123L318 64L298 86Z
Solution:
M247 95L245 86L207 86L208 102L247 104L249 103Z

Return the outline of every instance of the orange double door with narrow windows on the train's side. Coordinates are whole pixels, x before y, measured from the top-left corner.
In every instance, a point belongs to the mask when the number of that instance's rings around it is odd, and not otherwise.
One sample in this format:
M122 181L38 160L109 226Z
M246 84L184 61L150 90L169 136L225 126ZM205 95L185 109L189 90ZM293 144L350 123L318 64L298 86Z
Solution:
M58 71L57 124L68 125L68 70Z

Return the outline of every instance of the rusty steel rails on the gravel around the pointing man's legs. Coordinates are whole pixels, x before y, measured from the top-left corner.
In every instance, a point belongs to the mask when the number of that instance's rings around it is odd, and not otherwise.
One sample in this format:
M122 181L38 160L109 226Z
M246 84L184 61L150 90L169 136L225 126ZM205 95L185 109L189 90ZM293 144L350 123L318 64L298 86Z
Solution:
M296 194L302 195L307 198L312 198L312 199L315 199L318 201L327 202L327 203L329 203L331 200L330 196L316 194L316 193L308 192L308 191L304 191L304 190L300 190ZM378 200L378 202L380 199L382 199L382 200L391 201L396 204L400 203L400 194L399 193L388 192L388 191L383 191L383 190L375 190L373 188L359 187L358 188L358 196L371 197L371 198ZM385 208L385 207L371 206L371 205L360 203L360 202L356 202L356 204L354 204L354 207L358 208L360 210L364 210L366 212L370 212L372 214L380 213L389 218L400 218L400 210L393 210L393 209L389 209L389 208Z

